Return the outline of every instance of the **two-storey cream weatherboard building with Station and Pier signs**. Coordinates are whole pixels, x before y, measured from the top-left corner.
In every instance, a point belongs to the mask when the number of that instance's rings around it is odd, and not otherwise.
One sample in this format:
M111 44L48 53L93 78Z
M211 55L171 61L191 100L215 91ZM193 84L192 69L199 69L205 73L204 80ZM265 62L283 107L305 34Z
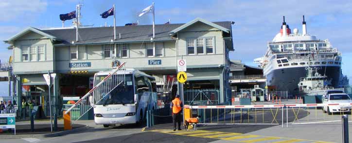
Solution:
M170 77L177 74L177 60L185 59L185 104L195 103L193 95L209 96L205 90L216 91L212 96L218 104L229 104L232 24L196 18L185 24L155 25L155 38L152 25L121 26L116 27L116 39L113 27L78 28L78 39L75 28L24 29L4 41L12 50L15 100L31 98L45 108L49 90L43 74L56 73L51 95L60 111L62 97L82 97L92 88L94 73L112 70L112 63L122 62L125 68L155 76L158 85L172 87L176 82L170 83ZM178 86L173 87L174 94L180 94Z

